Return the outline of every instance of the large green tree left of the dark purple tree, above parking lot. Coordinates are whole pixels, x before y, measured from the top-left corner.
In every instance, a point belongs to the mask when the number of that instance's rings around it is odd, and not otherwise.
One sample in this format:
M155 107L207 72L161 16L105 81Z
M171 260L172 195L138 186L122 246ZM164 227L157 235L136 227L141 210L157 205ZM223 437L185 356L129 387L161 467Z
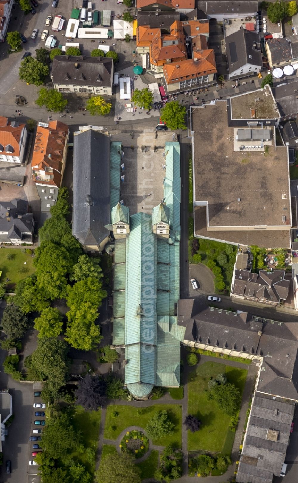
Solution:
M57 394L66 382L69 368L68 351L69 346L65 341L56 338L39 339L31 357L32 368L41 380L47 381L48 389L54 394Z

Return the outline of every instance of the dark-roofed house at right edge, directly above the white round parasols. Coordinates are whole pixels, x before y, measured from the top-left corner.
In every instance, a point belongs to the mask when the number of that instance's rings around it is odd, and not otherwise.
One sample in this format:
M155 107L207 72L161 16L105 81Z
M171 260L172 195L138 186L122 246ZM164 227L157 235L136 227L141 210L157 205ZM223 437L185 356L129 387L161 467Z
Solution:
M265 43L269 65L271 68L284 67L298 61L298 39L268 39Z

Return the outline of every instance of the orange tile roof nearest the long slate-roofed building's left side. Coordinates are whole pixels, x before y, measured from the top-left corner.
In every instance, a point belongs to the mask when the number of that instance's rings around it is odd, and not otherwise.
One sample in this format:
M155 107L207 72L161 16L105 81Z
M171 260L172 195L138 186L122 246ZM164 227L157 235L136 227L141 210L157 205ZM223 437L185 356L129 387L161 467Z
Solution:
M53 175L53 179L43 181L43 184L61 185L63 151L68 131L68 126L60 121L50 121L47 128L37 128L31 168L33 171L48 168L47 173Z

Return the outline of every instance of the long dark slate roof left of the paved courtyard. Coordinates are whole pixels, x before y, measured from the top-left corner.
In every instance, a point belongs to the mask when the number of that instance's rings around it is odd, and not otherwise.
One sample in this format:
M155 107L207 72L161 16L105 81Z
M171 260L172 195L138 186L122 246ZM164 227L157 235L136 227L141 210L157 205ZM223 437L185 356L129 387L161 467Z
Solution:
M109 234L110 137L93 129L73 136L72 234L99 245Z

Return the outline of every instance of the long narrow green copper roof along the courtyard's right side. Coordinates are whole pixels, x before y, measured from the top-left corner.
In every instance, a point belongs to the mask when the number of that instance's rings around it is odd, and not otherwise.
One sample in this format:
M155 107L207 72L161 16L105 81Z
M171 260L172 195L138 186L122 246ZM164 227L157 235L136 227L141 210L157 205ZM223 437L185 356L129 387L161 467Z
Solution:
M166 142L166 178L164 179L164 201L170 208L170 227L180 232L180 145L179 142Z

